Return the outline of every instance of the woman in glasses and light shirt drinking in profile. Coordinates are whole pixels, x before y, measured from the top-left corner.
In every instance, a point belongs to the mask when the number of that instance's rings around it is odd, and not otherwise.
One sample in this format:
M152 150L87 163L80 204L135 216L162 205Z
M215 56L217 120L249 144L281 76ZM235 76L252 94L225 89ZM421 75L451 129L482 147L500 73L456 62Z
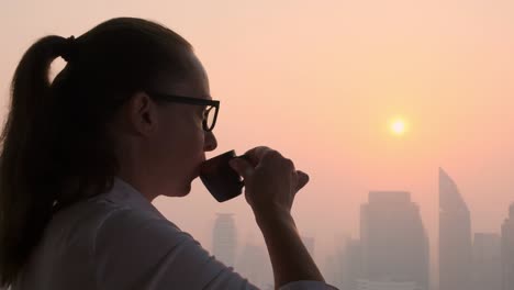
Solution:
M67 65L51 83L58 56ZM186 40L128 18L76 40L46 36L24 54L11 93L0 287L255 289L150 203L188 194L204 153L216 147L216 102ZM270 148L246 155L231 166L245 179L276 288L331 289L290 214L308 176Z

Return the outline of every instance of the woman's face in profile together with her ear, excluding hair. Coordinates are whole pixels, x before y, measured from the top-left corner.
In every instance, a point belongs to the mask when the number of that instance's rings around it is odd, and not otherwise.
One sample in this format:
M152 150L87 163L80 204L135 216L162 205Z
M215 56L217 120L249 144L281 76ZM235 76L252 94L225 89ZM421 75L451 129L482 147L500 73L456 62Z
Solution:
M201 63L190 57L190 78L172 82L164 74L153 90L134 93L109 126L120 176L150 200L160 194L186 196L200 174L204 152L216 147L214 135L202 124L205 104L213 102L209 81ZM197 105L182 102L183 98L194 99ZM213 108L209 115L215 112Z

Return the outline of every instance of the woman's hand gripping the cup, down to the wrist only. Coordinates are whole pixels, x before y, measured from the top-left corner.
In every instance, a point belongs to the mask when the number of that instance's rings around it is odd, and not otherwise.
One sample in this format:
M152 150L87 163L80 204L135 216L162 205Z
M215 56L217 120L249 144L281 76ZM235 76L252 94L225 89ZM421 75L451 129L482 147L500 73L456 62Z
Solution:
M309 182L309 176L269 147L255 147L245 156L248 160L234 158L231 167L244 178L245 198L256 216L290 214L294 196Z

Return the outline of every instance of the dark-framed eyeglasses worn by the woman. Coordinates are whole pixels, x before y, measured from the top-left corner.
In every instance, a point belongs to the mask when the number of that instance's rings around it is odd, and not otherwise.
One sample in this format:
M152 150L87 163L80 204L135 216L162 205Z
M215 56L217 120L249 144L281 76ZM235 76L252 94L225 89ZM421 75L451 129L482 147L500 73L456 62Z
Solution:
M217 111L220 111L220 101L206 100L199 98L190 98L175 94L166 94L158 92L147 92L150 97L176 103L193 104L193 105L204 105L203 110L203 121L202 126L205 132L211 132L214 129L217 120Z

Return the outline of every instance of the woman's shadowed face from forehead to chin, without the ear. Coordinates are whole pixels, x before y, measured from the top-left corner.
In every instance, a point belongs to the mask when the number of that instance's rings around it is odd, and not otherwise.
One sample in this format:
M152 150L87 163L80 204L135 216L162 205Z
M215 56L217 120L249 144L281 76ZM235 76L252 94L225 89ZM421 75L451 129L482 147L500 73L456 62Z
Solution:
M200 60L191 53L192 71L180 83L167 85L164 81L159 92L212 99L208 76ZM212 132L202 127L202 105L168 102L158 107L159 125L155 134L153 170L159 175L161 192L168 197L183 197L191 190L191 181L200 174L200 165L205 160L205 152L217 146Z

